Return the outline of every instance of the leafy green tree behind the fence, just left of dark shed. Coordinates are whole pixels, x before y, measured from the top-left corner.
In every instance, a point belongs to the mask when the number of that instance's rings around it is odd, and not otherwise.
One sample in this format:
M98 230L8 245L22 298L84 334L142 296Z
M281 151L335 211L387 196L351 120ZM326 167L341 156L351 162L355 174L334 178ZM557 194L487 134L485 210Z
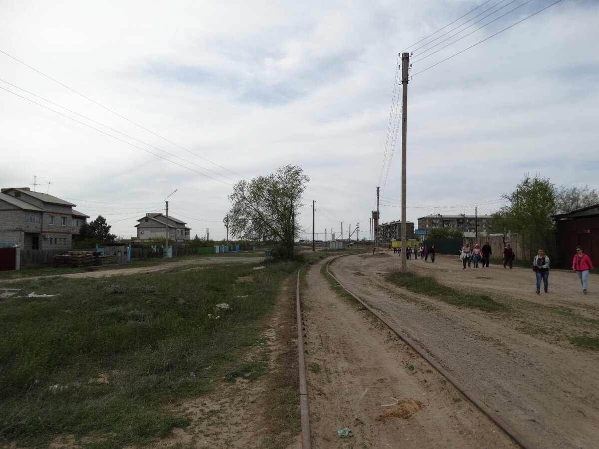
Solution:
M502 197L510 204L491 216L491 232L518 233L530 254L539 248L555 253L555 231L551 219L556 213L555 185L549 178L525 175L516 190Z

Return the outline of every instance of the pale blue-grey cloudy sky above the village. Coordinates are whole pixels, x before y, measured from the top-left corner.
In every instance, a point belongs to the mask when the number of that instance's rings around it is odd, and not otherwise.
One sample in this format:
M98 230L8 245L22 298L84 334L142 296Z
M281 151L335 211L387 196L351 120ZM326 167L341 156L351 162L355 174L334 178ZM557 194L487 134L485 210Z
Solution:
M0 187L126 238L177 189L224 238L235 182L292 164L307 232L314 200L319 238L369 236L377 186L401 218L407 50L409 221L491 213L525 174L598 188L599 2L554 2L0 0Z

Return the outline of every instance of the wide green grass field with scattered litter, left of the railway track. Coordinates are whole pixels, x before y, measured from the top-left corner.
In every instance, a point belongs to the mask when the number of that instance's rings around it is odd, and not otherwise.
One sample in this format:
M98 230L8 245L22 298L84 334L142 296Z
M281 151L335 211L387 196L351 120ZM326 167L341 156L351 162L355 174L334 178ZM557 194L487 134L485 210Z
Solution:
M11 282L58 296L0 302L0 443L143 446L189 425L176 411L186 398L265 371L245 354L263 344L277 289L300 265Z

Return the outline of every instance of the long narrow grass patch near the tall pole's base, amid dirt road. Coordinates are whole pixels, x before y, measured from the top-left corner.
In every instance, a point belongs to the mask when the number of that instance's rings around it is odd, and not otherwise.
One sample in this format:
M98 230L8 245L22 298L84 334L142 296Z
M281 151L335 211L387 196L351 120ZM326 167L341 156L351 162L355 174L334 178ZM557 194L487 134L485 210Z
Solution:
M458 307L475 308L485 312L504 312L510 307L495 301L489 295L477 295L470 292L459 292L451 287L438 283L434 277L420 276L415 272L393 271L385 275L386 280L420 295L435 298Z

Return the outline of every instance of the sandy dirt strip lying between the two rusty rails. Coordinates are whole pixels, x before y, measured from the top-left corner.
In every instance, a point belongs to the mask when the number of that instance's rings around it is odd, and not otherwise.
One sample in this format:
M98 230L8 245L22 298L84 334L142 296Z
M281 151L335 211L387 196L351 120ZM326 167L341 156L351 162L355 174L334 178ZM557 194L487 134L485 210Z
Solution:
M302 295L313 448L515 447L370 313L342 301L322 263ZM349 439L337 435L345 427Z

